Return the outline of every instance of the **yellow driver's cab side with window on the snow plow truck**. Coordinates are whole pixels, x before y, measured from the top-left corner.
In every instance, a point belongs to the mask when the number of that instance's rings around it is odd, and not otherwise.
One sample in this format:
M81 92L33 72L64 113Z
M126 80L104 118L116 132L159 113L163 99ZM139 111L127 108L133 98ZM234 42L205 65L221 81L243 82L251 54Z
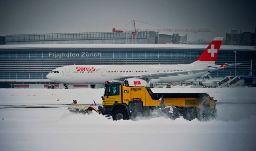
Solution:
M104 103L102 105L113 105L114 103L122 103L121 85L109 85L106 87L104 94Z

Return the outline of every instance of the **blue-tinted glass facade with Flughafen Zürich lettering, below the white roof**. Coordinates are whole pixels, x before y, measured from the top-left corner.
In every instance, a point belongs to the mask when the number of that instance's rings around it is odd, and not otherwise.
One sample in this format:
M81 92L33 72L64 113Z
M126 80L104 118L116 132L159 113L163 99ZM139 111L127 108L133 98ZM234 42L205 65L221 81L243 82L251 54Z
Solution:
M46 79L49 71L67 65L190 64L204 50L175 48L32 48L0 49L0 79ZM220 50L215 64L235 63L233 50ZM212 77L248 75L255 51L237 51L242 65L211 72Z

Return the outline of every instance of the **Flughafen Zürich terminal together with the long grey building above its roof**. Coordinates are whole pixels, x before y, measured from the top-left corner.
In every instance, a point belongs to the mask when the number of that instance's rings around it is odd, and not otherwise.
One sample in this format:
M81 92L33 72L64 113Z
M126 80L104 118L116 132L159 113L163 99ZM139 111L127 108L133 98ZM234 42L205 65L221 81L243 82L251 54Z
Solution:
M132 44L132 33L127 32L6 35L3 37L5 45L0 45L0 82L56 84L46 78L48 72L74 64L190 64L208 46L162 45L164 41L172 42L172 38L172 35L157 32L140 32L137 44ZM255 57L254 46L222 45L216 64L242 65L210 74L212 77L247 75L251 59L255 73Z

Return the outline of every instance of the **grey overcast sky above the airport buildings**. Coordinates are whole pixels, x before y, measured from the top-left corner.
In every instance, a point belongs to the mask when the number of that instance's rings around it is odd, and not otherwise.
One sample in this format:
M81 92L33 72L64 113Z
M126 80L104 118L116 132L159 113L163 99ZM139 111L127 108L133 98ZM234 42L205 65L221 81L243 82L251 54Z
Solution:
M0 36L110 32L136 19L170 29L209 28L188 33L188 41L212 40L231 29L254 32L255 6L255 0L0 0ZM136 28L159 29L139 22Z

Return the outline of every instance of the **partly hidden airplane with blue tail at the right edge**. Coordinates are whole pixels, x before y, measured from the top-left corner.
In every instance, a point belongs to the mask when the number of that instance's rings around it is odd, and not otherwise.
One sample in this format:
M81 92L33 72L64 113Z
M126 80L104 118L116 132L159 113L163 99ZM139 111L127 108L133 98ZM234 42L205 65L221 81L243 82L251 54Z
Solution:
M236 76L239 78L239 80L244 80L244 83L241 84L240 86L252 85L253 79L255 78L255 77L253 77L252 68L253 68L253 60L251 60L249 75L237 75ZM235 76L227 76L221 80L213 80L213 78L209 74L208 74L208 77L210 78L209 80L203 79L203 81L201 82L202 85L204 85L206 87L223 87L222 85L219 86L219 82L225 82L225 81L228 82L229 80L235 78Z

